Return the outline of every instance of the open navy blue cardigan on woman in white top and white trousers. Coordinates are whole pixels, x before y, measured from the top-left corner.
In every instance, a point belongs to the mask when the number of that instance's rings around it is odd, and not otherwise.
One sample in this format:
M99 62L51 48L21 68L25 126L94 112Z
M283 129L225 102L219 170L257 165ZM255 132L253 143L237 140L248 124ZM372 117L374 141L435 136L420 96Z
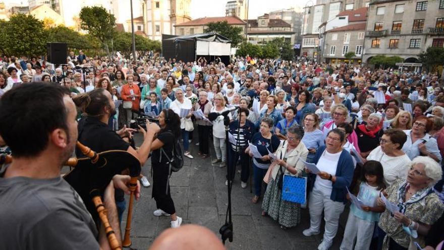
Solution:
M314 163L317 164L319 162L319 158L321 158L324 153L325 146L320 146L316 151L316 156L314 158ZM330 194L331 201L334 202L342 202L347 203L347 189L352 183L353 173L355 168L353 166L352 156L348 151L342 149L341 156L339 157L338 167L336 169L336 181L332 183L332 189ZM310 174L310 177L314 177L312 180L313 188L314 182L316 180L316 176L314 174ZM310 188L310 189L311 189Z

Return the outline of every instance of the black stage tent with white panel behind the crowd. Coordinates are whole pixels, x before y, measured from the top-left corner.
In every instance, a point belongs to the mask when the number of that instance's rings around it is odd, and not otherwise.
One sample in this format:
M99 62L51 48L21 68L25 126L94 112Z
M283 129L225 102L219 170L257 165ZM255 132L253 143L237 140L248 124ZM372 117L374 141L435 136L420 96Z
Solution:
M207 62L220 57L225 64L230 62L231 40L213 33L171 36L162 35L162 54L165 59L176 58L193 62L205 57Z

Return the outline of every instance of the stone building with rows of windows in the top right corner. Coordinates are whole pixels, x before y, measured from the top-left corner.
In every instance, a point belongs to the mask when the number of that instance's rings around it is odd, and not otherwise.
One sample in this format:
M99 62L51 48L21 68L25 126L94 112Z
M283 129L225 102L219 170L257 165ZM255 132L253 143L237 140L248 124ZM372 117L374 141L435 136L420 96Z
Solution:
M363 62L386 55L416 63L429 46L444 46L444 0L370 3Z

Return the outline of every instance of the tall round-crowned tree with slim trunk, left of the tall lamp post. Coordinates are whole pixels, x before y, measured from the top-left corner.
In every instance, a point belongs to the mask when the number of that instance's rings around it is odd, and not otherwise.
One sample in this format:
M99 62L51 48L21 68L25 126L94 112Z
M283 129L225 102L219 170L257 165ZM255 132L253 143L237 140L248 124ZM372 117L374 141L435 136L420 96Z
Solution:
M110 60L109 46L107 41L111 40L115 33L116 18L109 14L103 7L83 7L80 10L80 27L87 30L90 35L96 37L106 48Z

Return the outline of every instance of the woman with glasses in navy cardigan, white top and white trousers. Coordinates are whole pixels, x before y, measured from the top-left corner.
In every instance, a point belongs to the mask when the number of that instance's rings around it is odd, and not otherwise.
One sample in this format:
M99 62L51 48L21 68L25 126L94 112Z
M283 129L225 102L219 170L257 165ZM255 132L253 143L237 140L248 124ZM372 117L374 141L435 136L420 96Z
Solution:
M324 212L325 231L318 249L327 250L338 231L339 216L347 202L347 189L353 179L353 160L350 153L342 148L346 140L339 129L328 132L325 146L319 147L314 163L319 173L313 177L314 185L310 192L310 228L302 233L311 236L320 233L322 212ZM307 173L311 173L306 169ZM311 174L311 176L313 176Z

